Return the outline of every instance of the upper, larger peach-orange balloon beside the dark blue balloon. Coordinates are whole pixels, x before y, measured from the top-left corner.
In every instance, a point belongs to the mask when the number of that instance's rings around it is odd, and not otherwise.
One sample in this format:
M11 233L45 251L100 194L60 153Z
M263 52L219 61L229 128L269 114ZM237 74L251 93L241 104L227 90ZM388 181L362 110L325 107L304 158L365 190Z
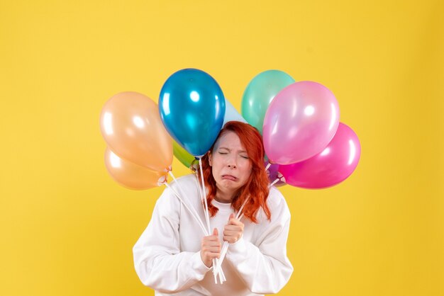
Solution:
M172 141L157 105L132 91L117 93L101 110L101 134L118 156L155 171L170 169Z

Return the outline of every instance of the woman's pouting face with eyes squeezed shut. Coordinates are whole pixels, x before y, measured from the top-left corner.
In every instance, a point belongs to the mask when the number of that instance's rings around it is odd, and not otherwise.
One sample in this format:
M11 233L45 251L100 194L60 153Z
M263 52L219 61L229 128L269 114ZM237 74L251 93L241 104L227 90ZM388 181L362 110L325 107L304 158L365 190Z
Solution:
M234 195L251 175L251 161L235 132L226 132L218 138L209 155L209 164L218 190L228 195Z

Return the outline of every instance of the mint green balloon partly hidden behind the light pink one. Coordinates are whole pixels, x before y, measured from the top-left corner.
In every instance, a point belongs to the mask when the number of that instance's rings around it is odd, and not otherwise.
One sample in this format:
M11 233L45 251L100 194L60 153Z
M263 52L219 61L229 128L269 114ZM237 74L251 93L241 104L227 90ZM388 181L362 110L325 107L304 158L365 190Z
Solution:
M257 74L248 84L242 97L242 115L262 134L265 113L274 96L285 86L294 83L289 74L268 70Z

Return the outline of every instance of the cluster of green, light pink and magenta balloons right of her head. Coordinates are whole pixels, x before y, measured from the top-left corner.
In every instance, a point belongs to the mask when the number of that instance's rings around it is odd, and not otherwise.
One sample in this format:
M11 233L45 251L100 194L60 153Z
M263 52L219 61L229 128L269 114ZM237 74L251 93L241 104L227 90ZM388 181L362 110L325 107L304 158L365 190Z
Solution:
M360 142L339 122L335 96L316 82L262 72L245 90L242 115L262 131L270 181L328 188L348 178L360 159Z

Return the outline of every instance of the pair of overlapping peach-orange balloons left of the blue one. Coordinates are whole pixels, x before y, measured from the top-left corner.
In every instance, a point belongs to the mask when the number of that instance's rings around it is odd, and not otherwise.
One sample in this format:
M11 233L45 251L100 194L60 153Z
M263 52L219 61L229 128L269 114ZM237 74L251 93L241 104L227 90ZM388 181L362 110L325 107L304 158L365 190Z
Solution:
M114 180L139 190L167 181L172 140L150 98L131 91L117 93L101 110L100 128L108 144L105 166Z

